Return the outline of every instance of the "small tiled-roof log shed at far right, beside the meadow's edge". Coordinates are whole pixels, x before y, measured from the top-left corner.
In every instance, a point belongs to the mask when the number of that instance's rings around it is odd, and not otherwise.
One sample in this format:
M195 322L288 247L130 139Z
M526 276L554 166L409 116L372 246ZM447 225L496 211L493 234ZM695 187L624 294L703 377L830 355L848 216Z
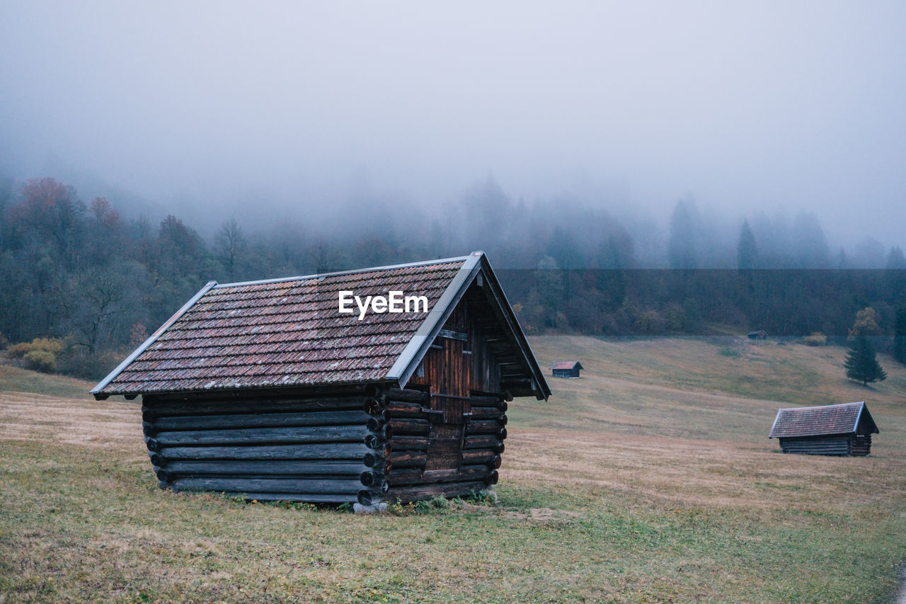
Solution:
M872 434L878 426L861 402L781 409L768 438L778 439L784 453L868 455Z

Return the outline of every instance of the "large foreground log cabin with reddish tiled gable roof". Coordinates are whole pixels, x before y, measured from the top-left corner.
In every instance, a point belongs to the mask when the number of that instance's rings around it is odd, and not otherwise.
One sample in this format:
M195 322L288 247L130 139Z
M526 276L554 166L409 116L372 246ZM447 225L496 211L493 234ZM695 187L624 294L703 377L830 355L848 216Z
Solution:
M427 307L360 318L343 291ZM92 389L141 395L162 488L365 506L494 484L507 402L550 392L481 252L208 283Z

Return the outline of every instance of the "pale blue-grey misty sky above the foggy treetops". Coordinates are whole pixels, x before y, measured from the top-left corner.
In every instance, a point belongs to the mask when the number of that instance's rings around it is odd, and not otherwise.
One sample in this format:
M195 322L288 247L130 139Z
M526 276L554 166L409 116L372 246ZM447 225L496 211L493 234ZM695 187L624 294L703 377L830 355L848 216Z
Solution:
M904 86L903 2L4 0L0 174L183 214L437 206L493 174L902 245Z

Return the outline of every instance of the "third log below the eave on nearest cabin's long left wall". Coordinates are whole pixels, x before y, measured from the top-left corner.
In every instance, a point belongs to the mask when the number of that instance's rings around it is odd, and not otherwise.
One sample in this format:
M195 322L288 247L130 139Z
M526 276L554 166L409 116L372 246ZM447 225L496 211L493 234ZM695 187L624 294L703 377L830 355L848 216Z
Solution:
M364 426L318 425L298 428L241 428L236 430L187 430L159 432L160 446L226 445L256 443L361 443Z

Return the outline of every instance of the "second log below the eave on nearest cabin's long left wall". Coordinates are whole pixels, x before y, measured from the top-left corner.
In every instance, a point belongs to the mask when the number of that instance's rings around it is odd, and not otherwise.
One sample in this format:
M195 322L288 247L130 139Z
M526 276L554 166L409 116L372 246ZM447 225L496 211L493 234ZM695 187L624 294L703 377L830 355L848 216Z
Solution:
M368 415L361 411L309 411L289 414L173 415L159 417L153 427L165 430L213 430L313 425L364 425Z

